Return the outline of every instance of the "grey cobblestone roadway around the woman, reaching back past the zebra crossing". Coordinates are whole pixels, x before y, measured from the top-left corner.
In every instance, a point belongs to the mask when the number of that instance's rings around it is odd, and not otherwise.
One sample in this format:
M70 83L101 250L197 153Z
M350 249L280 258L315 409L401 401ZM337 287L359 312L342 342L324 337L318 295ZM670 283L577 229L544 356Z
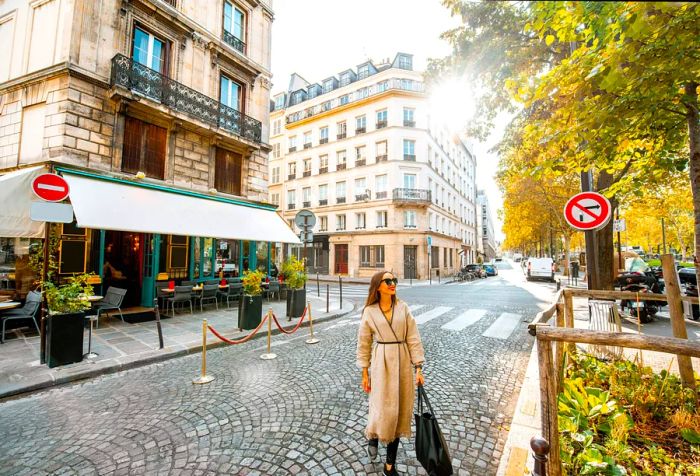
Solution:
M456 474L494 474L537 300L502 277L400 293L420 307L417 318L434 316L419 325L426 390ZM442 328L470 308L485 312L461 330ZM512 333L482 335L504 315L516 315ZM316 345L275 336L271 361L259 358L261 341L211 351L208 385L192 385L200 360L188 356L1 402L0 474L377 474L364 454L356 322L318 326ZM398 462L425 474L411 440Z

